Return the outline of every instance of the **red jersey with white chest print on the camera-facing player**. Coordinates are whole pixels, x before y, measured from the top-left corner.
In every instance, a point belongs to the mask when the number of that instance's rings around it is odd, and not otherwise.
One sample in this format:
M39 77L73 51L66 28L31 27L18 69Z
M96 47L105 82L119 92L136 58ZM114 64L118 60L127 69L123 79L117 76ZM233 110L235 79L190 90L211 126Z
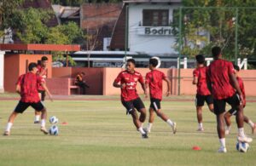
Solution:
M118 77L115 78L114 83L125 83L125 87L121 89L121 100L129 101L138 98L137 94L137 81L143 83L143 76L139 72L130 73L128 71L120 72Z

